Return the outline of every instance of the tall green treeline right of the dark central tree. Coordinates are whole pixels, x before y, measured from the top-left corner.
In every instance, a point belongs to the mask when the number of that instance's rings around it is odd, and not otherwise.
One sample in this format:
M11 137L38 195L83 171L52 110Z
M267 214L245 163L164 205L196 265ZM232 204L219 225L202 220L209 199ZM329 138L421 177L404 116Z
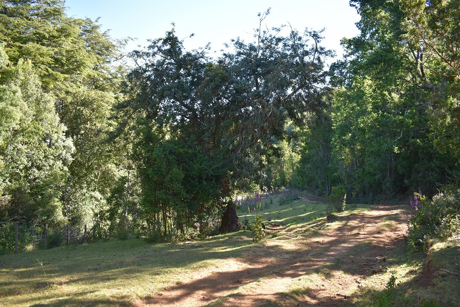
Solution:
M350 4L361 34L342 40L346 59L301 128L299 183L361 202L432 196L459 176L459 3Z

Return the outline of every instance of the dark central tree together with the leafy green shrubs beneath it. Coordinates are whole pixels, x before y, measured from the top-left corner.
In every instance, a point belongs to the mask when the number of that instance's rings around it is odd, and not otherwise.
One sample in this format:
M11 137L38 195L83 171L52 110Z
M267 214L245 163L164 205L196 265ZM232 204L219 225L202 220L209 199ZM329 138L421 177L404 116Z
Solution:
M138 65L128 75L120 112L138 118L133 158L147 228L162 227L167 236L174 232L168 225L183 232L187 221L203 230L209 213L225 210L220 231L236 229L226 200L237 190L264 177L266 186L292 179L298 157L284 141L285 128L303 123L315 107L331 52L319 46L318 32L280 32L257 29L255 42L232 40L234 52L217 61L186 51L174 29L152 40L148 51L132 52Z

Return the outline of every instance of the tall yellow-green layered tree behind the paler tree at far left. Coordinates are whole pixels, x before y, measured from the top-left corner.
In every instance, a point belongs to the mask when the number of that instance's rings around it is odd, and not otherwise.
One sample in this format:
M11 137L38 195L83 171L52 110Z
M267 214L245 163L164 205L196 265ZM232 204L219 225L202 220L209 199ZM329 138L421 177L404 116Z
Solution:
M105 142L119 97L121 74L112 65L117 44L97 21L68 17L63 0L0 2L0 41L12 63L31 61L41 89L54 100L76 148L62 188L64 214L90 222L126 160L120 144Z

